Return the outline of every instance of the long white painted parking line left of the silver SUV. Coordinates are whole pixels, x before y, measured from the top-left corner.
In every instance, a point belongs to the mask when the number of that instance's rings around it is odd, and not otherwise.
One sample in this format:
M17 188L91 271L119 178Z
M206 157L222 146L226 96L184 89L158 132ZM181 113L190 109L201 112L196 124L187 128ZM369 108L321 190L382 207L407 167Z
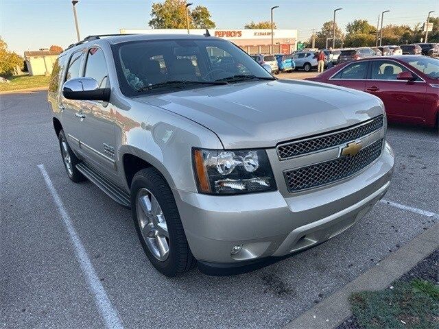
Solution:
M58 211L60 212L62 221L64 222L64 226L69 233L73 249L75 250L75 256L76 258L78 258L78 262L80 263L82 272L86 277L88 287L93 292L93 295L95 297L95 304L97 306L97 309L99 310L99 314L102 316L102 319L104 319L106 328L122 329L123 325L119 314L117 313L117 310L112 306L110 299L108 298L108 295L104 289L104 286L97 276L95 267L93 267L93 264L88 257L86 249L84 248L84 245L82 245L81 239L76 233L75 227L71 222L69 213L64 207L64 204L62 204L62 200L56 192L56 188L51 182L51 179L44 167L44 164L38 164L38 169L40 169L41 174L44 177L47 188L49 188L49 191L54 198L54 202L58 208Z

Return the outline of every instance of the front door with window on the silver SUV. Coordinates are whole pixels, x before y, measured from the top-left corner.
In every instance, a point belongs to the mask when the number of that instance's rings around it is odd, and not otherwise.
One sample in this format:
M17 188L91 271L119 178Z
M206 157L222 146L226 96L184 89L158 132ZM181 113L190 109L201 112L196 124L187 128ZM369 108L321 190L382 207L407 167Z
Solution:
M92 77L99 88L110 88L104 51L91 47L86 55L84 77ZM115 127L112 104L104 101L82 101L81 148L86 162L107 178L117 179L115 167Z

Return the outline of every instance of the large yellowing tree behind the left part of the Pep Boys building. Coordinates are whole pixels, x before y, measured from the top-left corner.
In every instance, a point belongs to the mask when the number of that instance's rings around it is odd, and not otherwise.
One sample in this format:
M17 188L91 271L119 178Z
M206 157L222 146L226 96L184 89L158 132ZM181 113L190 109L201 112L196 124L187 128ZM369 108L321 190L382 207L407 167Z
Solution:
M186 0L165 0L164 3L153 3L151 17L148 25L153 29L185 29L186 23ZM198 5L189 10L189 27L206 28L215 27L211 20L209 10Z

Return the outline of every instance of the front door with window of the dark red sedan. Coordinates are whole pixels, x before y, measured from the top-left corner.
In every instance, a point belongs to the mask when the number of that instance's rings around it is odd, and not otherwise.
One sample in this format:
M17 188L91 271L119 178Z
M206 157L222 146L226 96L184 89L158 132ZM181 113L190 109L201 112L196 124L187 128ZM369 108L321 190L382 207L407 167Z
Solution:
M394 60L371 60L366 92L382 99L389 119L423 122L427 84L417 75L415 81L396 80L405 71L410 70Z

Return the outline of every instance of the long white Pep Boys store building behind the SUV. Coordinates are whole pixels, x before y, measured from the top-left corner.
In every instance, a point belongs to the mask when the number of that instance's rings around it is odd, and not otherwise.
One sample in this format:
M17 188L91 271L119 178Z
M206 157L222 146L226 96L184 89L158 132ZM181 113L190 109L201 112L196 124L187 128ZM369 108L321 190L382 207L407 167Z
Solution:
M190 29L191 34L204 34L205 29ZM187 29L120 29L121 34L187 34ZM271 29L209 29L218 36L235 43L250 54L292 53L297 50L297 29L274 29L272 47Z

